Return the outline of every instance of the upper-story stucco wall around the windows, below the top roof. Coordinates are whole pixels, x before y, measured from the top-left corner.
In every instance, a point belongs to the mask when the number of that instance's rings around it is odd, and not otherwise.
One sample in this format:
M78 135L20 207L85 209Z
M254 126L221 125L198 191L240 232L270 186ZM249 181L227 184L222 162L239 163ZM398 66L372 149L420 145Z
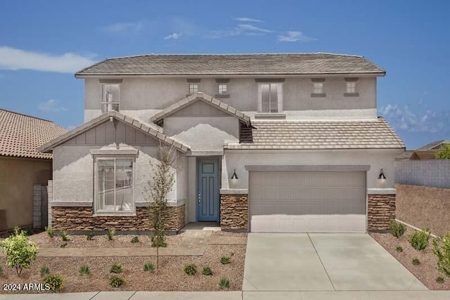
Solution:
M85 80L85 122L101 114L101 84L98 79ZM349 110L376 107L376 78L360 77L356 84L358 97L345 97L344 77L328 77L324 82L326 97L313 98L311 78L287 78L283 83L283 110ZM224 103L245 112L257 110L257 83L254 78L233 78L228 83L229 98ZM199 91L217 94L213 78L201 78ZM184 78L123 78L120 85L120 110L132 117L150 122L158 111L186 97L188 82ZM295 118L296 114L288 114ZM333 115L329 115L333 117ZM375 117L375 116L373 116Z

